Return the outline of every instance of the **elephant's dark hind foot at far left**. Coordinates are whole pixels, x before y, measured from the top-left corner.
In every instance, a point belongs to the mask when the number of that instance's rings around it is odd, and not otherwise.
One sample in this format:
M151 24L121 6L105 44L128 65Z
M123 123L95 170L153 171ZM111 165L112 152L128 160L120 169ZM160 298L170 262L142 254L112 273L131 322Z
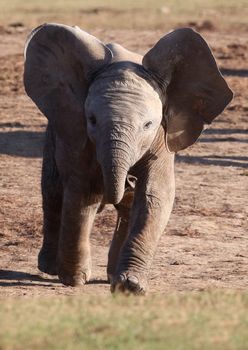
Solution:
M57 275L56 258L57 250L42 248L38 255L38 269L48 275Z

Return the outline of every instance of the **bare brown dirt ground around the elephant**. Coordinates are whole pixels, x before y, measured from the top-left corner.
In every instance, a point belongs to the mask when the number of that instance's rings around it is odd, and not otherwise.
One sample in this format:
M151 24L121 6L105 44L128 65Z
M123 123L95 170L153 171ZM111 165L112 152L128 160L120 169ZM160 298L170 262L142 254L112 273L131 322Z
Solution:
M205 29L202 34L235 98L199 142L176 158L176 200L151 270L153 293L248 287L248 37ZM98 215L92 233L89 284L64 287L37 270L46 120L22 86L28 32L18 25L0 27L0 297L109 293L106 261L115 223L111 206ZM93 34L144 53L164 33Z

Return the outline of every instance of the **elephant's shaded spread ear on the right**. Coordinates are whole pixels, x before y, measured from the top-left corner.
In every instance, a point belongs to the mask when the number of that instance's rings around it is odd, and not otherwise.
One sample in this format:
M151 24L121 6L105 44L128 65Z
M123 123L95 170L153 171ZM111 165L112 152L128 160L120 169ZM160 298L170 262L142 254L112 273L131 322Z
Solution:
M232 100L205 40L190 28L177 29L144 56L143 66L165 91L166 143L176 152L192 145Z

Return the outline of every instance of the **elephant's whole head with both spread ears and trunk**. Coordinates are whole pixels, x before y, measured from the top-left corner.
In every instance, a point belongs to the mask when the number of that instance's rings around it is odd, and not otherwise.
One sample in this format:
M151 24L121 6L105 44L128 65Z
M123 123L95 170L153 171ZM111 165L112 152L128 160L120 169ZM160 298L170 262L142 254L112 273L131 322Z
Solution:
M113 204L161 124L167 149L177 152L232 99L208 45L189 28L165 35L142 57L78 27L44 24L27 41L24 84L63 142L95 143Z

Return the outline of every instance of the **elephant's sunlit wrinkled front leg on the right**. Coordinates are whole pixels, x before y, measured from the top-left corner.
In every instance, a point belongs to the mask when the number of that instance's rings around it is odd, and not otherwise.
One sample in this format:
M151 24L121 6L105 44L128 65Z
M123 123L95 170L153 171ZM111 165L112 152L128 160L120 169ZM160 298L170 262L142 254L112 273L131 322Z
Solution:
M121 251L112 292L146 291L153 256L173 206L173 163L173 155L161 155L138 180L129 235Z

